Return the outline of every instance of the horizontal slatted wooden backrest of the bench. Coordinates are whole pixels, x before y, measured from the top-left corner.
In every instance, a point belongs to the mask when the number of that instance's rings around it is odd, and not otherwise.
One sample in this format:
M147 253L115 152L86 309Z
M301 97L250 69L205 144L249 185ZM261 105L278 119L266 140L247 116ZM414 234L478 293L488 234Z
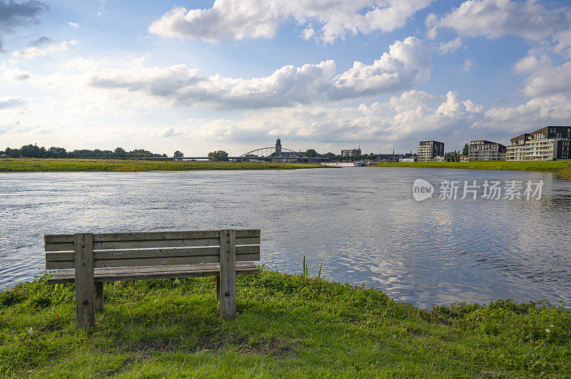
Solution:
M234 249L236 261L260 260L260 229L46 234L44 242L48 270L76 268L75 251L93 254L94 268L218 263Z

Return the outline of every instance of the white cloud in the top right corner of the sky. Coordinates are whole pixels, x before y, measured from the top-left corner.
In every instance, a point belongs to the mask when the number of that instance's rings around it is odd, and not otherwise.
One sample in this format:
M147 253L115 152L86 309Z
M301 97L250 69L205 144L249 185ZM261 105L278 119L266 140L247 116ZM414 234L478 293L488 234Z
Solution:
M545 9L535 0L467 0L445 16L430 14L428 36L437 28L453 28L464 36L520 36L539 41L569 25L570 9Z

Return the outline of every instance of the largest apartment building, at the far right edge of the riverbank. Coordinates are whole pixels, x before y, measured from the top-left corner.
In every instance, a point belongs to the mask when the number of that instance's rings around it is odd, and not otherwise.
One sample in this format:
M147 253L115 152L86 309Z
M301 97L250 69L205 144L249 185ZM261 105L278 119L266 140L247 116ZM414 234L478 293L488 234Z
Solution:
M571 126L546 126L513 137L505 160L571 159Z

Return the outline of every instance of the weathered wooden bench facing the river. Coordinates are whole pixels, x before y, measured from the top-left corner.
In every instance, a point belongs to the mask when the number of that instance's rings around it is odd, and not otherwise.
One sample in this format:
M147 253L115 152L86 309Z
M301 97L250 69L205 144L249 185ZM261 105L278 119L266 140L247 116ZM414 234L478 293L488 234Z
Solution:
M106 234L46 234L50 284L76 283L79 328L103 310L106 281L216 276L220 316L236 317L236 275L258 274L259 229Z

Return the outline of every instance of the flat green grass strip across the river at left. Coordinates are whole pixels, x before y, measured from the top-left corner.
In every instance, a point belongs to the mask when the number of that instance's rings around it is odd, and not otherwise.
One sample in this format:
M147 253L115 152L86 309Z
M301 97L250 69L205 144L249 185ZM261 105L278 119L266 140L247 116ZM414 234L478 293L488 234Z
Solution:
M138 172L191 170L290 170L316 168L307 163L201 162L186 160L103 160L103 159L0 159L0 172Z

